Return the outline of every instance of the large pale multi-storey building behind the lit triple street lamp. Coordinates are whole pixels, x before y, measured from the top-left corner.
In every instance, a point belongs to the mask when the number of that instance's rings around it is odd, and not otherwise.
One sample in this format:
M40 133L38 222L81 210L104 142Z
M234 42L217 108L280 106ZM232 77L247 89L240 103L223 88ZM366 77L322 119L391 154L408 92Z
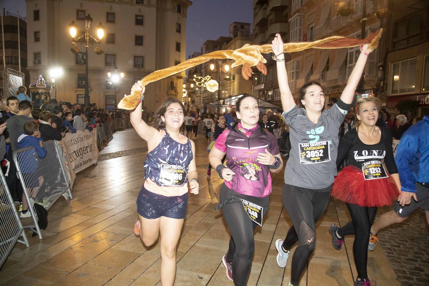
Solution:
M39 75L48 81L49 70L60 66L64 74L55 78L57 99L65 102L84 102L85 61L89 65L90 102L98 106L114 107L133 84L154 72L185 60L186 15L192 5L188 0L27 0L28 54L31 83ZM84 18L94 19L90 35L97 38L96 27L105 27L99 45L89 45L88 59L85 45L73 53L69 24L78 26L76 37L84 31ZM38 15L38 17L36 17ZM104 53L96 54L94 48ZM110 84L107 73L124 72L119 84ZM169 97L181 99L184 72L149 84L144 105L154 111Z

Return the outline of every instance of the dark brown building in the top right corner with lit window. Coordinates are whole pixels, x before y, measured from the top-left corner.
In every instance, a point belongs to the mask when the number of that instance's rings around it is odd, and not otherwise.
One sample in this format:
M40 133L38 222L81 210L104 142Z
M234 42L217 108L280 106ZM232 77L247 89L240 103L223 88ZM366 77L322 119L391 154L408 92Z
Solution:
M429 115L429 1L389 1L388 8L382 99L390 110L411 99L417 102L416 115Z

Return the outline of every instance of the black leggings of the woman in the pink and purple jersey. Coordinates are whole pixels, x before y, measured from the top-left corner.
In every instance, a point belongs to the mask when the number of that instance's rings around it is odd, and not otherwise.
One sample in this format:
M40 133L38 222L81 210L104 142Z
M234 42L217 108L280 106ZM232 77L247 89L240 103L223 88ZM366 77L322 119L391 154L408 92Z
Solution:
M222 185L221 201L224 196L230 196L225 184ZM263 209L262 217L265 216L267 208ZM230 247L227 253L227 262L233 262L233 279L235 286L246 286L252 266L255 251L254 230L258 226L250 220L244 210L242 202L231 202L222 207L225 221L231 232Z

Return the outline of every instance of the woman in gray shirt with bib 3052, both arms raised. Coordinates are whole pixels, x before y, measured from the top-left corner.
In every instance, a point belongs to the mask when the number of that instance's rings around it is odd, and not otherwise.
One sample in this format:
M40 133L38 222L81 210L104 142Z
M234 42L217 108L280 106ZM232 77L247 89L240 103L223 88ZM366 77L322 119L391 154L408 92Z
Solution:
M296 106L288 84L283 41L279 34L276 34L271 47L277 61L281 104L285 111L282 115L290 127L292 145L284 172L283 203L293 226L284 241L276 241L275 247L278 251L278 266L284 268L290 248L299 241L293 256L289 283L297 286L308 257L316 246L315 223L328 205L334 175L337 174L338 129L352 106L369 47L364 45L361 48L340 99L329 110L323 110L323 88L313 81L304 84L300 90L300 102L305 109Z

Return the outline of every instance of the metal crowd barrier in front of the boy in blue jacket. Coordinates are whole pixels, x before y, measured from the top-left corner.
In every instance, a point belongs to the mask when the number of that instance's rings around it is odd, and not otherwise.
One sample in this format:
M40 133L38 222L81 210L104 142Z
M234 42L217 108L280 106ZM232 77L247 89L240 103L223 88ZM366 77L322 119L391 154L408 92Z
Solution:
M24 226L32 229L42 239L37 214L33 204L42 205L49 210L52 205L67 192L72 198L70 180L64 165L64 157L61 145L57 141L43 143L46 149L46 157L40 159L33 147L19 149L13 152L17 175L21 181L24 196L28 204L33 225Z

